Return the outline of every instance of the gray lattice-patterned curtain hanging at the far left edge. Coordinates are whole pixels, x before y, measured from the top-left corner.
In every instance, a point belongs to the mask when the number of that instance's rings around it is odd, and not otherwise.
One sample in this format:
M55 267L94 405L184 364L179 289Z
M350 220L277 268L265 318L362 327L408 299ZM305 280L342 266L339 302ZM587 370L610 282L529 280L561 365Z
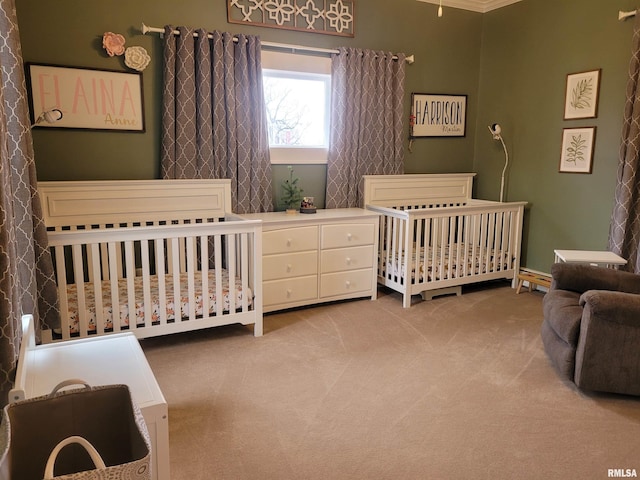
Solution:
M14 0L0 0L0 405L7 402L22 331L57 327L53 265L36 185L22 50Z

